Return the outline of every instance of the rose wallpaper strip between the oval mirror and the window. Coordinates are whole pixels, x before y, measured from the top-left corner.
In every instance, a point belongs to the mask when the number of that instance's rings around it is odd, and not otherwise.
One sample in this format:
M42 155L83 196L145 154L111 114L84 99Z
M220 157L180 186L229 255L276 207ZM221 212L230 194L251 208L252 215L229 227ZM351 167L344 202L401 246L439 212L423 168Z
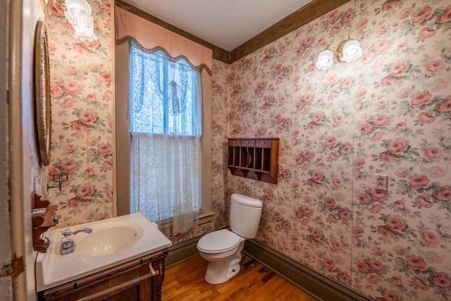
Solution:
M49 179L68 181L49 190L58 226L113 216L111 3L90 0L97 41L80 42L61 9L48 7L52 99ZM51 183L54 185L54 183Z

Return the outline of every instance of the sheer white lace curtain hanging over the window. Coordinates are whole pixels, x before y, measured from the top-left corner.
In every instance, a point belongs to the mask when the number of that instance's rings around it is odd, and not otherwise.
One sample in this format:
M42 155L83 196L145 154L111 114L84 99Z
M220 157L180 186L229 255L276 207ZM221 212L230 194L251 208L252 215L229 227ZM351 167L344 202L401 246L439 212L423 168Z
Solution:
M201 199L200 74L130 42L131 211L166 235L193 228Z

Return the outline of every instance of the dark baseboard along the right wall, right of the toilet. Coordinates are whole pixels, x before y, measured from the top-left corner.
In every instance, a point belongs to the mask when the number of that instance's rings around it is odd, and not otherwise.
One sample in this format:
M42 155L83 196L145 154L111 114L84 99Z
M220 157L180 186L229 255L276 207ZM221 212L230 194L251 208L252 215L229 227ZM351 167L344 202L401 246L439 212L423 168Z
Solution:
M246 240L243 252L318 300L371 301L257 240Z

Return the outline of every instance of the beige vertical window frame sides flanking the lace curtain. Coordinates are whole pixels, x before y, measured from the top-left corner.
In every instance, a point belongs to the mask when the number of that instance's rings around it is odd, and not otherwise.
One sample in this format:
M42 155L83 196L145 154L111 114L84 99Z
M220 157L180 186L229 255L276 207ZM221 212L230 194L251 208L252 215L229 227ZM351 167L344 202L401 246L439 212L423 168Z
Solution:
M115 73L116 99L114 100L115 116L115 147L113 156L116 166L113 173L113 183L116 191L113 206L117 216L130 214L130 118L129 118L129 76L128 56L130 45L128 42L116 44ZM121 76L118 76L121 75ZM211 75L205 68L201 70L202 89L202 137L201 137L201 176L202 192L198 225L211 221Z

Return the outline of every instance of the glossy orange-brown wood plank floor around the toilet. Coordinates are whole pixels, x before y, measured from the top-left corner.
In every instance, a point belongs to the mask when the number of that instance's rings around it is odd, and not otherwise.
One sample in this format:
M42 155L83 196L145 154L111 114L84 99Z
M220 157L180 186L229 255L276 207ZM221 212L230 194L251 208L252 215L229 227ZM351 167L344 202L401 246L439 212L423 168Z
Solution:
M207 265L208 262L198 256L166 269L163 301L316 301L292 283L247 256L243 256L240 272L222 284L213 285L205 281Z

